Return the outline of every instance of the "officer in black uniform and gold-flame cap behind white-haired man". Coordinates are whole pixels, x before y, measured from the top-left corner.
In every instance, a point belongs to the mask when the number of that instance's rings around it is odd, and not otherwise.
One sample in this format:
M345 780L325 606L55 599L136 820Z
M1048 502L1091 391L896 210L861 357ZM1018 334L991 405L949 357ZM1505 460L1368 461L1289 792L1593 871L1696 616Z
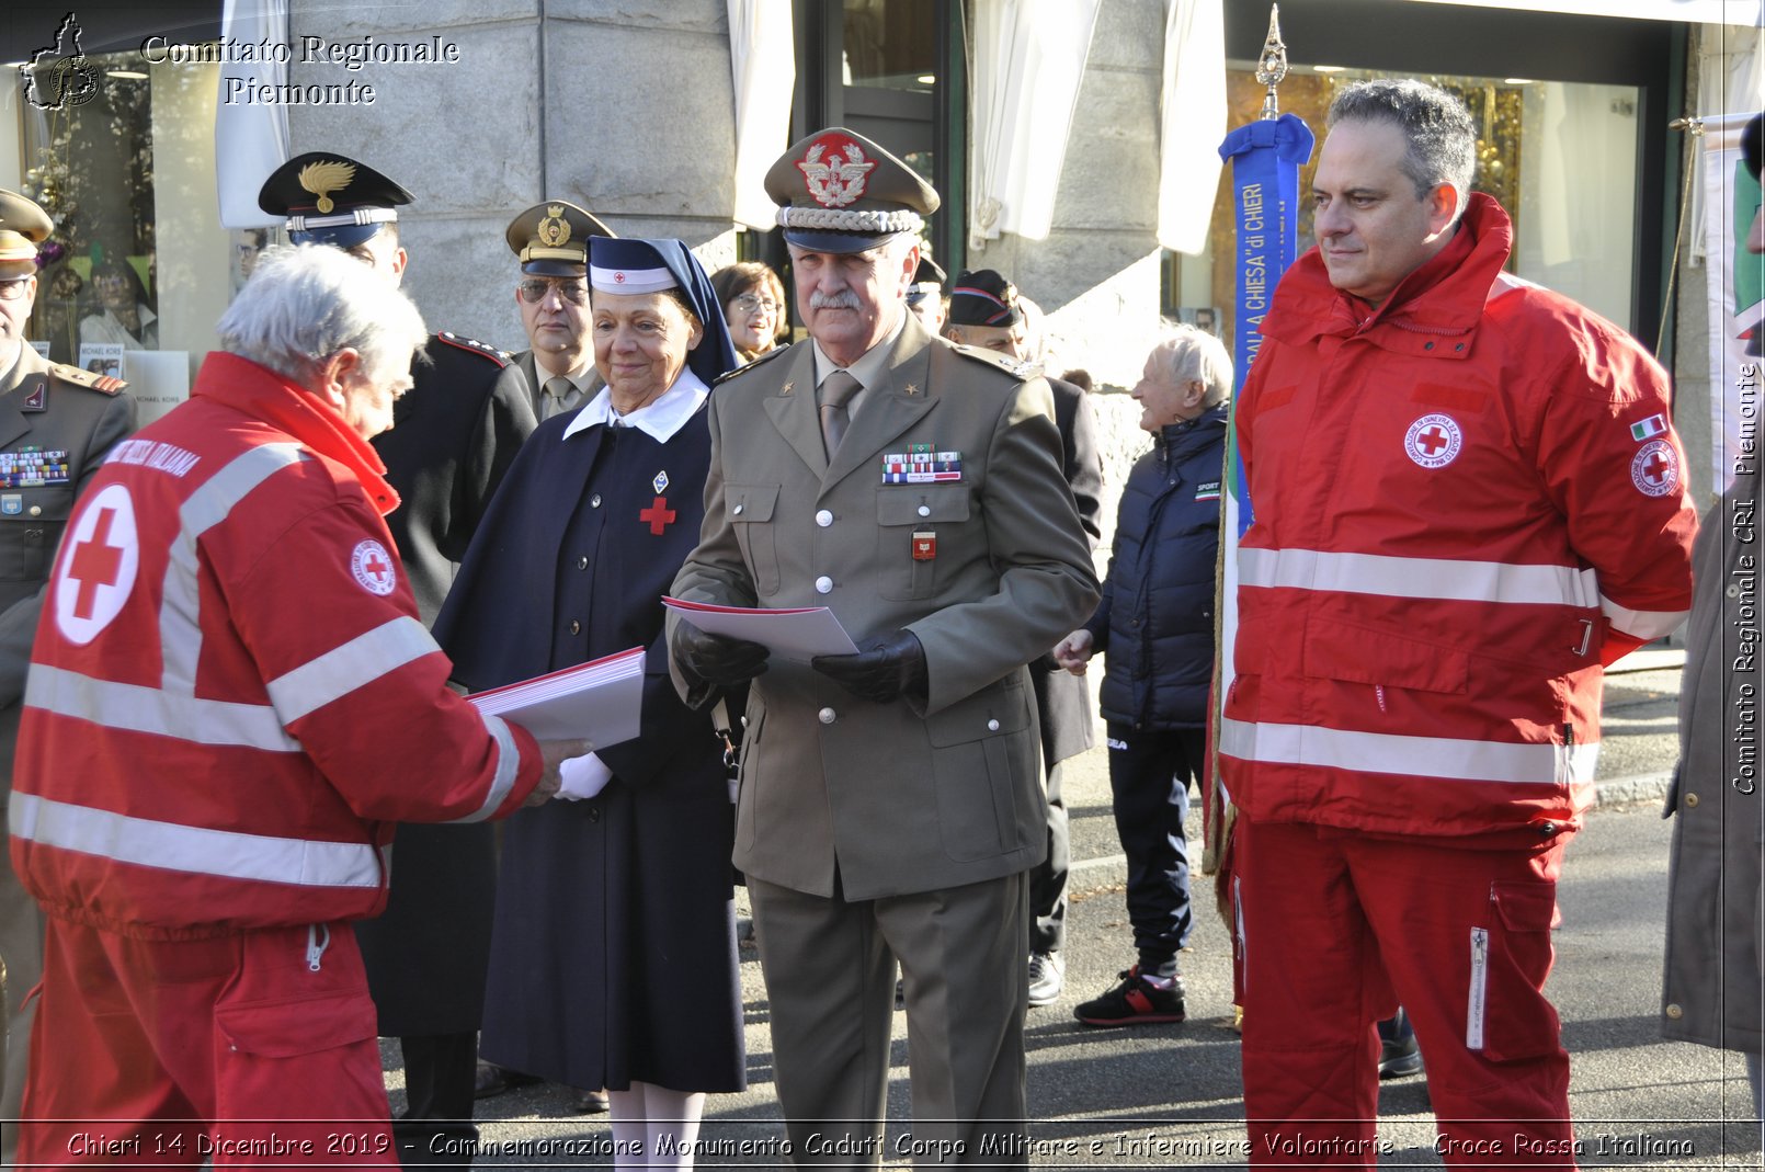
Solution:
M411 196L344 155L289 159L258 203L288 217L295 244L328 244L395 279L397 208ZM436 334L411 362L413 388L374 440L402 503L387 517L399 556L432 623L496 485L533 432L533 406L508 355ZM420 782L422 778L413 778ZM468 1138L478 1017L494 905L494 838L487 823L399 826L387 911L357 928L379 1033L404 1052L406 1108L394 1123L406 1163L447 1165L436 1137ZM454 1121L454 1123L448 1123ZM464 1146L469 1147L469 1146ZM459 1165L471 1163L457 1156Z

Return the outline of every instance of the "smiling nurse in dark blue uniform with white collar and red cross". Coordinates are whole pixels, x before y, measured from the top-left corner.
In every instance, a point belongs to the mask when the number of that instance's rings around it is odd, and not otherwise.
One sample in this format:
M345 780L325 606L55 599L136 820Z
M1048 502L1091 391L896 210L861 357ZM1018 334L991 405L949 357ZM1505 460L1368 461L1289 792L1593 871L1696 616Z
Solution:
M614 1138L655 1153L690 1140L704 1093L745 1086L729 785L669 683L660 604L699 540L704 402L736 355L678 240L595 238L590 286L607 387L521 448L434 632L475 692L650 650L641 736L579 759L574 801L507 823L480 1050L605 1086Z

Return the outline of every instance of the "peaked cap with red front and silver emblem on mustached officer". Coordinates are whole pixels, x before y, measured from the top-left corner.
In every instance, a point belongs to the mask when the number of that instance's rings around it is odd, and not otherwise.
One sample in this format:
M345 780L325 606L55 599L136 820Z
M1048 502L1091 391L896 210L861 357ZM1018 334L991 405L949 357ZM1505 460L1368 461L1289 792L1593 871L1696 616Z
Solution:
M784 238L814 252L863 252L920 231L937 191L918 171L845 127L815 131L766 171Z

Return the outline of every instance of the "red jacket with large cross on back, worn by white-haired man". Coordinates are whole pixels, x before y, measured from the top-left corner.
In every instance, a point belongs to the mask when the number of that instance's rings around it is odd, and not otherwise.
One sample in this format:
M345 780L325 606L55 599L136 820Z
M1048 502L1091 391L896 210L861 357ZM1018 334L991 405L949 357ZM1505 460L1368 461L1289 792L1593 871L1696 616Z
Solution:
M56 556L12 780L12 865L51 914L146 937L372 916L392 823L531 793L533 738L447 688L379 471L231 355L116 445Z

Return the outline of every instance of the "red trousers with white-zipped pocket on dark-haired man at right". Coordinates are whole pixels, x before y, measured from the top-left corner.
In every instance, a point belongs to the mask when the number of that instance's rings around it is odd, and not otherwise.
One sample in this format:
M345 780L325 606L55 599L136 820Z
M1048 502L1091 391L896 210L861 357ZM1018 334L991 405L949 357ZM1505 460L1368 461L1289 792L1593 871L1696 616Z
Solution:
M1253 1167L1377 1163L1373 1024L1398 1004L1447 1167L1574 1167L1543 992L1569 835L1500 851L1250 819L1236 835Z

